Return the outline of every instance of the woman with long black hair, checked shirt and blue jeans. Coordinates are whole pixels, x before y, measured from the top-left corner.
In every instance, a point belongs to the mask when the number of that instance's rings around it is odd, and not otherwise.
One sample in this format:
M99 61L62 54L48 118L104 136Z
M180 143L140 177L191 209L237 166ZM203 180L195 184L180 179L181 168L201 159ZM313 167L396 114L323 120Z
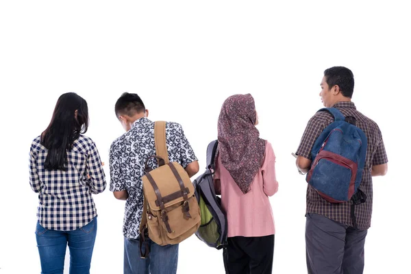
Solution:
M30 147L30 186L38 192L36 240L42 273L90 273L97 232L92 194L105 189L105 174L88 129L87 102L69 92L58 99L49 127Z

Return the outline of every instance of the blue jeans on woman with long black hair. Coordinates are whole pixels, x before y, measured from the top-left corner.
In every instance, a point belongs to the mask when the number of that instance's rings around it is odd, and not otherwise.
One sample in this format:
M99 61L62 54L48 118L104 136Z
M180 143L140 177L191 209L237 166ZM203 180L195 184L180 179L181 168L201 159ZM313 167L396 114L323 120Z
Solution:
M62 274L67 244L70 249L70 274L90 273L92 249L97 233L97 216L72 231L50 230L37 222L36 240L42 274Z

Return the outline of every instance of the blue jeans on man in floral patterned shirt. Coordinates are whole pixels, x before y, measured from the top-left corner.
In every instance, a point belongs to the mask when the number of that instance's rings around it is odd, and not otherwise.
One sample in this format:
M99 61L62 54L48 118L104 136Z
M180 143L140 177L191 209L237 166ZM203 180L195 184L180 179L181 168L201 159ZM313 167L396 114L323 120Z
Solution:
M149 256L140 258L138 239L124 238L124 274L175 274L177 273L178 245L157 245L147 237ZM145 245L142 245L145 252Z

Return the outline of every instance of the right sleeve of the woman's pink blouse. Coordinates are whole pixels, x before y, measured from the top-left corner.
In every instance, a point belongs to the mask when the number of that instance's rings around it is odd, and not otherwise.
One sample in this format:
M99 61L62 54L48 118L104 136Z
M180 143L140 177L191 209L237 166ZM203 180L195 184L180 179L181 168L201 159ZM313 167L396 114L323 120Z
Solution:
M278 190L278 182L275 177L275 154L271 143L266 141L264 162L262 163L262 179L264 193L273 196Z

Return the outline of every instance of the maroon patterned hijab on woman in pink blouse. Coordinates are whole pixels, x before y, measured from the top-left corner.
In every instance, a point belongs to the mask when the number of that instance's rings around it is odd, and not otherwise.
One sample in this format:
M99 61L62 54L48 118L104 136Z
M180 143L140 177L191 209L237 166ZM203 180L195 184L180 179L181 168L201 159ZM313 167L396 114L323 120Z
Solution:
M219 116L221 164L244 194L249 192L264 158L265 140L254 125L256 119L256 105L250 94L228 97Z

